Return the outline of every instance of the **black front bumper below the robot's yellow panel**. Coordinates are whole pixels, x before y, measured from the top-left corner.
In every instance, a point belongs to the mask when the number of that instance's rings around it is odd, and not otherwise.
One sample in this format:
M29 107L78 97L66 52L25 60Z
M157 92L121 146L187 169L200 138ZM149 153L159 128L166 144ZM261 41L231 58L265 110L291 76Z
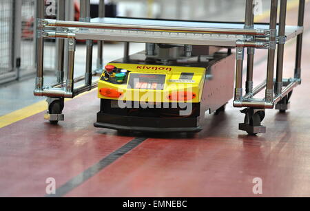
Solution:
M120 107L121 103L123 102L119 100L101 99L101 111L97 113L94 126L119 131L158 133L199 132L202 129L199 118L200 103L187 104L188 111L172 103L153 104L153 107L148 105L147 108L146 105L141 107L141 102L127 102L127 107Z

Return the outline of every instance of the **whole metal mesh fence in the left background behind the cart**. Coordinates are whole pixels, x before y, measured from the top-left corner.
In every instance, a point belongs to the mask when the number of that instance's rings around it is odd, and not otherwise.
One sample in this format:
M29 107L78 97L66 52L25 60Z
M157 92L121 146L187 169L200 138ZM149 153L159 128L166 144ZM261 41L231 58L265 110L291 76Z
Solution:
M50 1L46 1L47 5ZM56 1L53 1L56 2ZM21 15L15 15L17 3L21 4ZM20 5L19 4L19 5ZM20 9L20 8L19 8ZM46 16L54 19L55 15ZM19 22L21 21L21 22ZM15 23L21 23L21 28ZM17 78L17 69L13 67L14 47L19 49L21 63L19 76L35 72L36 66L36 0L0 0L0 83ZM21 33L20 43L14 40L14 30ZM20 31L19 31L20 30ZM56 69L56 43L45 39L44 69Z

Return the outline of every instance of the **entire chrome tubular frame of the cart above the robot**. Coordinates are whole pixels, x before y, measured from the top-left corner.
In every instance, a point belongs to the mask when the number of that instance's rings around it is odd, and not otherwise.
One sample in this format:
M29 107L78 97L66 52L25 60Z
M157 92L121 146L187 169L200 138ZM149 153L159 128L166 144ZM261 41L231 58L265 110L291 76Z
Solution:
M287 0L280 1L280 19L277 32L278 0L271 0L270 21L267 27L257 28L261 25L254 24L252 0L246 1L245 23L243 27L232 27L225 23L226 27L190 27L135 24L135 23L109 23L103 19L91 22L90 0L81 0L80 21L63 21L63 14L59 14L59 20L44 19L44 0L37 0L37 78L34 90L36 96L52 96L73 98L74 96L96 87L92 82L92 46L94 40L99 40L99 57L97 70L103 67L103 41L125 42L124 56L129 55L130 42L143 43L174 43L182 45L214 45L222 47L236 47L236 89L234 107L250 107L255 109L272 109L300 84L301 54L302 54L302 31L304 19L304 0L299 1L298 25L286 26ZM59 5L63 0L59 0ZM104 17L104 1L100 1L100 16ZM59 8L60 9L60 8ZM59 10L61 12L61 10ZM108 19L107 19L108 20ZM147 19L145 19L147 22ZM153 23L153 22L152 22ZM168 23L168 22L167 22ZM186 23L183 22L183 23ZM220 25L220 24L219 24ZM223 23L222 23L223 25ZM236 25L236 24L235 24ZM266 26L266 25L265 25ZM283 79L283 54L285 42L297 36L296 45L296 68L293 78ZM44 38L67 39L70 43L68 49L67 79L63 82L63 42L58 42L59 58L57 69L57 85L43 87L43 49ZM74 49L76 39L86 39L86 67L85 76L74 79ZM278 45L278 54L276 47ZM267 77L257 87L253 87L254 53L256 48L268 50ZM245 82L245 96L242 96L242 69L243 58L247 49L247 80ZM147 54L152 54L152 44L147 44ZM274 63L277 57L276 78L274 78ZM98 72L98 71L97 71ZM74 82L85 80L85 85L74 89ZM65 83L65 87L62 84ZM254 96L265 89L265 98L255 99Z

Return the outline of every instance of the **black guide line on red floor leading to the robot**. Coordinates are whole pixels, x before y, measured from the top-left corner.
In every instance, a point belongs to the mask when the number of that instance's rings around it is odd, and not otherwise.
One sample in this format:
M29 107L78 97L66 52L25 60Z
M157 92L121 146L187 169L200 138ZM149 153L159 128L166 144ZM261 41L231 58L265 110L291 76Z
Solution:
M96 173L99 173L101 170L103 170L103 168L109 166L110 164L115 162L116 159L122 157L145 140L147 140L147 137L134 138L127 144L123 145L121 148L118 148L110 155L107 155L107 157L101 159L98 163L94 164L90 168L87 168L79 175L76 175L76 177L73 177L72 179L67 181L65 184L63 184L63 186L57 188L56 194L45 195L45 197L63 197L68 192L83 184L87 179L90 179L90 177L93 177L94 175L96 175Z

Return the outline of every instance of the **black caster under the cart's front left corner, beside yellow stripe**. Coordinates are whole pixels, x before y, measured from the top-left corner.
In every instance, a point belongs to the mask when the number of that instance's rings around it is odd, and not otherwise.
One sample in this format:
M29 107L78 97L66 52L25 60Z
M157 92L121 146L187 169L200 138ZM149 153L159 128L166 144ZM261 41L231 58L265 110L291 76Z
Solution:
M50 124L57 124L58 121L64 120L64 115L61 113L65 106L64 98L48 98L48 111L44 114L44 119L49 120Z

